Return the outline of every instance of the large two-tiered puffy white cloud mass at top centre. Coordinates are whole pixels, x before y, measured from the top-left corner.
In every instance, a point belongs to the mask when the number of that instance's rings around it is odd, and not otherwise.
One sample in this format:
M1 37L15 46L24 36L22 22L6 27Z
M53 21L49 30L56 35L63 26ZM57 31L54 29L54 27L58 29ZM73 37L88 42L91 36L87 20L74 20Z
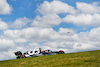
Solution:
M36 27L53 27L59 25L62 22L62 18L59 17L58 14L77 13L77 10L75 10L74 7L61 1L44 1L43 4L38 6L37 10L42 16L37 16L34 19L32 26Z

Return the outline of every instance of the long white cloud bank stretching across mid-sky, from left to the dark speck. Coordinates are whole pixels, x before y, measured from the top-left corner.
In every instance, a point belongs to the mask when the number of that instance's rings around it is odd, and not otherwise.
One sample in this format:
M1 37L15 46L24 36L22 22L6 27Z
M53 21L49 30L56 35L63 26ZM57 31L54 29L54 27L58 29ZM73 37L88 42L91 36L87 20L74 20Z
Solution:
M53 41L53 40L54 41L68 40L69 39L68 37L73 35L74 33L75 32L72 29L61 28L59 32L56 32L52 28L39 28L39 27L30 27L22 30L4 31L4 35L6 38L12 39L14 40L14 42L17 43L25 43L28 41L43 42L43 41Z

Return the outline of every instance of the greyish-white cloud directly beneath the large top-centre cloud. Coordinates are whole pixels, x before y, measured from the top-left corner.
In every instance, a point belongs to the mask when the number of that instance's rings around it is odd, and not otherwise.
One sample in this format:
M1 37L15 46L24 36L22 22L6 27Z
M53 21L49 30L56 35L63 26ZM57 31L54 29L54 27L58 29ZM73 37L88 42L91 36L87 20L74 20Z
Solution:
M62 19L57 14L47 14L42 17L37 16L32 26L34 27L52 27L55 25L59 25L62 22Z

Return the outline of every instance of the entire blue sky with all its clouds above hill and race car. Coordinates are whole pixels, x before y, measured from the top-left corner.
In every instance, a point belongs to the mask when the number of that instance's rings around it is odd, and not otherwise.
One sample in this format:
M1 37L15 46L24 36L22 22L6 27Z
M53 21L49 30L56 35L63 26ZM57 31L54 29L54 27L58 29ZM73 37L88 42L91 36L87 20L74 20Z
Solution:
M99 18L100 0L0 0L0 60L40 47L98 50Z

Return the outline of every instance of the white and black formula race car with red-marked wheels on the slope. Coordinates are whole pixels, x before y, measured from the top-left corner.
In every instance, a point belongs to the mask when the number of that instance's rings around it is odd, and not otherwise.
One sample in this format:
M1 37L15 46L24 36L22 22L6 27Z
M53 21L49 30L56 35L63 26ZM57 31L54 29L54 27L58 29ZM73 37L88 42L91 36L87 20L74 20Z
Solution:
M45 55L56 55L56 54L64 54L65 52L60 51L51 51L51 50L43 50L41 51L41 48L30 50L27 52L22 53L21 51L14 52L14 54L17 56L16 58L26 58L26 57L36 57L36 56L45 56Z

